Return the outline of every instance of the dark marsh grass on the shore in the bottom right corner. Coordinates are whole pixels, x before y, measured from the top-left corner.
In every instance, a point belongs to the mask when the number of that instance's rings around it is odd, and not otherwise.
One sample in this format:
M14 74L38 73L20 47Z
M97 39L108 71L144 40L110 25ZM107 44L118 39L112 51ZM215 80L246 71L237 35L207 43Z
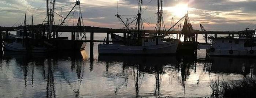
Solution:
M240 82L211 80L211 98L256 98L256 79L244 78Z

